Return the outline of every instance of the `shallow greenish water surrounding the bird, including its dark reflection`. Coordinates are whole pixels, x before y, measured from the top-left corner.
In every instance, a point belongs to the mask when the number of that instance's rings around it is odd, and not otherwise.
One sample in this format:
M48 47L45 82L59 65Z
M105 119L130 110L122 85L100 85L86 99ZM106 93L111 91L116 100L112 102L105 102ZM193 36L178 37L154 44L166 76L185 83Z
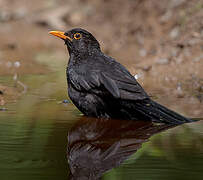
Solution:
M165 127L84 118L62 103L66 84L52 76L22 77L28 92L0 112L1 180L70 179L68 162L74 179L202 179L201 121Z

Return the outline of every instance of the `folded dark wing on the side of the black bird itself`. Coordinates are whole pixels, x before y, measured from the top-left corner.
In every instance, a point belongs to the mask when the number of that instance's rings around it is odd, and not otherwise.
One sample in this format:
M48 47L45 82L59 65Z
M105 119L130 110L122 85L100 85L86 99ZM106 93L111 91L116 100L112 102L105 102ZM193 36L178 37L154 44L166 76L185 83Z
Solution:
M142 100L149 98L136 79L121 64L95 63L90 65L85 74L72 76L75 88L105 97L125 100Z

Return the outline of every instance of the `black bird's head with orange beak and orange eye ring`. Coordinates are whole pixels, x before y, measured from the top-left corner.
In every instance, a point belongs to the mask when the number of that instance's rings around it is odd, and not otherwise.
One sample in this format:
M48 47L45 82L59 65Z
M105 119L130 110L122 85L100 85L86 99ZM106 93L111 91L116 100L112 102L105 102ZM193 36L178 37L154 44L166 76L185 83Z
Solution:
M96 38L88 31L75 28L70 31L50 31L50 34L65 41L69 54L91 54L95 50L100 50L100 45Z

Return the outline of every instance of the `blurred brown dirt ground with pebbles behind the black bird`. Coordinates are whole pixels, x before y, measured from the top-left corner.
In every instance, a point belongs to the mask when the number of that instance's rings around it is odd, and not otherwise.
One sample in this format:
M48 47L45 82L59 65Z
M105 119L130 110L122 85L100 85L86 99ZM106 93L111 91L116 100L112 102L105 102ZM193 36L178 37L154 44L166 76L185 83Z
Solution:
M203 117L203 0L0 0L0 76L46 73L40 52L66 60L48 31L73 27L92 32L157 101ZM19 93L1 79L3 107Z

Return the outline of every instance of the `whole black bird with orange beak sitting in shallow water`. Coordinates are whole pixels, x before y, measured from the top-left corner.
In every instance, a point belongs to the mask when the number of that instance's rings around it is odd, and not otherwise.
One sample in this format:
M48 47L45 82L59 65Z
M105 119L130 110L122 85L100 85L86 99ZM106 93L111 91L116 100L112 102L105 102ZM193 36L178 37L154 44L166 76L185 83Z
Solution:
M101 51L99 42L88 31L75 28L50 34L63 39L68 48L68 94L86 116L173 124L192 122L151 100L123 65Z

